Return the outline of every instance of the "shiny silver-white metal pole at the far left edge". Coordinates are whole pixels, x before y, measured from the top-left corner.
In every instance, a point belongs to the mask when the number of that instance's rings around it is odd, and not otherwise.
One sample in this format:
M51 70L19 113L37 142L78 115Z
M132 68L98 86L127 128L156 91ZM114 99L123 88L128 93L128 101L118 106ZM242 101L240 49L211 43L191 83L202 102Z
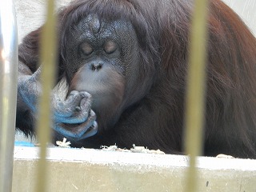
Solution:
M11 191L17 102L18 38L12 0L0 0L0 192Z

